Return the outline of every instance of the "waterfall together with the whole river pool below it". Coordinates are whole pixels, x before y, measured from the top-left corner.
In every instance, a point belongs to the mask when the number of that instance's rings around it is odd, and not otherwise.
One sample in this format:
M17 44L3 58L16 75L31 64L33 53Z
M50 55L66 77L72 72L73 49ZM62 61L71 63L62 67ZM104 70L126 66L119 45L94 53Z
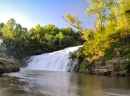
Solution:
M69 52L79 47L32 56L20 72L0 77L0 96L130 96L130 77L67 72Z

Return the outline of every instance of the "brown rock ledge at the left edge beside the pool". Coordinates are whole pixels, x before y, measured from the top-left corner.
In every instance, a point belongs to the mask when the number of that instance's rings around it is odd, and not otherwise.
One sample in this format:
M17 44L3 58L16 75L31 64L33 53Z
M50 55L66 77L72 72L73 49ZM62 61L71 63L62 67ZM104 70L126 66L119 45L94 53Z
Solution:
M0 74L20 71L19 63L12 59L0 58Z

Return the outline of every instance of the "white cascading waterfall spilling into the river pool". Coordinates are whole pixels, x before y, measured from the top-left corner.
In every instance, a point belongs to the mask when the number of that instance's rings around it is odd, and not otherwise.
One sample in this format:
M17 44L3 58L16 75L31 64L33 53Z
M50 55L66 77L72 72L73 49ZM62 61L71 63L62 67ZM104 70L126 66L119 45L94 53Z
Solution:
M52 71L68 71L71 67L69 53L78 50L79 47L69 47L52 53L45 53L37 56L32 56L28 59L28 69L37 70L52 70Z

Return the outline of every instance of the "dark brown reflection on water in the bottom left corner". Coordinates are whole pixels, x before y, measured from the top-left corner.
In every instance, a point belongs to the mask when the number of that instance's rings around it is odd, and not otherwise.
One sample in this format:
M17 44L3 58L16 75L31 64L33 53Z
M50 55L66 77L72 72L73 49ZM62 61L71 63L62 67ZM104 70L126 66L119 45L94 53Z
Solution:
M17 78L4 76L0 78L0 96L29 96L23 90L24 82L19 81Z

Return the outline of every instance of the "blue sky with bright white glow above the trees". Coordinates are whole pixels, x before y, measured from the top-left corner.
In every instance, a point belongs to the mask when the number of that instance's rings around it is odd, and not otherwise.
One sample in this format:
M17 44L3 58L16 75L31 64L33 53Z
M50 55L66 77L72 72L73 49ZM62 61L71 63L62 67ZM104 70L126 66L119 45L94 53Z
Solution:
M0 22L14 18L28 29L37 24L53 24L59 28L71 27L62 18L66 13L77 15L84 28L91 27L91 19L86 18L89 7L86 0L0 0Z

